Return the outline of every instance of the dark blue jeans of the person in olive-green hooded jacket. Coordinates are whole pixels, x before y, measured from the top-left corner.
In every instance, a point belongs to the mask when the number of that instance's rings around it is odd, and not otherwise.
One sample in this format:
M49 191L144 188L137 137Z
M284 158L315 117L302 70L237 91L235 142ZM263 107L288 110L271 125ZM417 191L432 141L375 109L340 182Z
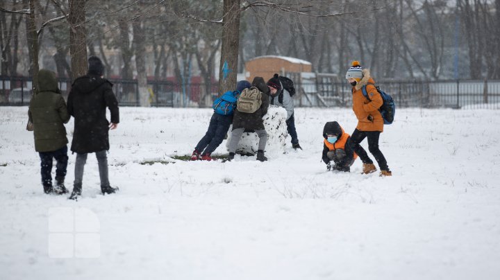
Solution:
M40 166L42 173L42 184L44 186L52 185L52 161L56 159L56 178L64 178L66 176L67 168L67 146L55 150L53 152L39 152Z

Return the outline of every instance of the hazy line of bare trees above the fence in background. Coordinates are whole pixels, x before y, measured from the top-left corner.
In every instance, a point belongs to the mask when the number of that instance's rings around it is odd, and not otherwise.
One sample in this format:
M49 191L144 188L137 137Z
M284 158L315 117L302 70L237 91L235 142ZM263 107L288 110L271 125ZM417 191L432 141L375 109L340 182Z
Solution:
M360 60L379 79L500 79L500 0L11 0L0 30L3 76L42 61L75 78L98 55L140 86L208 85L224 62L234 83L246 60L285 55L340 76Z

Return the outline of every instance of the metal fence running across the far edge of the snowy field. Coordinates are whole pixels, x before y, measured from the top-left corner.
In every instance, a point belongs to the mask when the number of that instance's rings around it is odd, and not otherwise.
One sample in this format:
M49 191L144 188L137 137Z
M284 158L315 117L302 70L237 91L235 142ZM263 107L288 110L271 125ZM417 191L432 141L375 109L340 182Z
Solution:
M110 80L120 106L138 106L137 80ZM28 105L32 80L26 77L0 77L0 105ZM382 81L383 91L398 107L474 107L500 109L499 80ZM297 107L350 107L351 85L347 82L295 82ZM59 88L67 98L71 83L60 79ZM175 85L169 81L148 81L153 107L210 107L219 92L217 84Z

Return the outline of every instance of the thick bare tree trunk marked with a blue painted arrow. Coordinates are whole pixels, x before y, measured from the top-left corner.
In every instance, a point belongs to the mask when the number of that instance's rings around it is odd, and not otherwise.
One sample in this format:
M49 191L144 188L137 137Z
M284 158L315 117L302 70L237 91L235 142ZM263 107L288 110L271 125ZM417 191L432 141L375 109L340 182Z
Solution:
M219 93L231 90L236 85L240 43L240 2L241 0L224 0Z

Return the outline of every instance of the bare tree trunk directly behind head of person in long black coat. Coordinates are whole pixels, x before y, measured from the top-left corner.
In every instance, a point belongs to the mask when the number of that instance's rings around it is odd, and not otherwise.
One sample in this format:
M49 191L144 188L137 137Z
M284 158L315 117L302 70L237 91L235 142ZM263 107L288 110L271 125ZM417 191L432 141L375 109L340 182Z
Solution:
M85 0L69 1L69 53L72 80L87 73L87 35L85 33Z

